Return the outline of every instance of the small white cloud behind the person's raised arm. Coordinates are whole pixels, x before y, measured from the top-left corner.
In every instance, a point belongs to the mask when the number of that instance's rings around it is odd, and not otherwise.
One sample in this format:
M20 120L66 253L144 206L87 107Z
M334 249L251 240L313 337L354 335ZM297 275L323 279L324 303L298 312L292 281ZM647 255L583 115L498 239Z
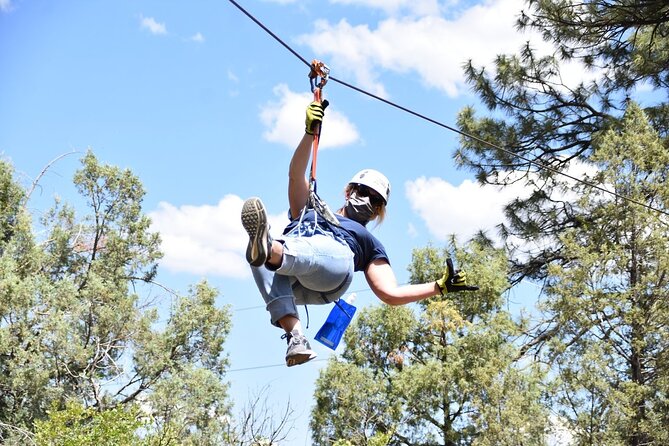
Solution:
M295 93L285 84L274 87L274 95L277 100L265 104L260 112L260 120L266 128L263 137L294 148L304 133L305 110L313 95ZM321 149L351 144L360 137L355 125L333 107L326 109L323 125L326 131L320 140Z

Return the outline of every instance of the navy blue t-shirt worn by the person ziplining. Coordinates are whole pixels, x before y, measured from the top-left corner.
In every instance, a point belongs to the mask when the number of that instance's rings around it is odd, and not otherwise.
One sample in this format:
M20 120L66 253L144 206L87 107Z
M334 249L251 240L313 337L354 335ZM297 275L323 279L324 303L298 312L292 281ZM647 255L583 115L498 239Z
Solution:
M367 265L377 259L383 259L390 263L388 254L386 254L386 248L383 247L383 244L367 228L350 218L342 217L341 215L336 215L336 217L339 220L340 226L331 225L322 217L318 218L319 226L338 235L348 244L351 251L353 251L355 271L364 271L367 269ZM299 221L299 217L291 220L283 231L284 235L295 228ZM309 209L304 214L302 221L312 223L314 221L314 211Z

